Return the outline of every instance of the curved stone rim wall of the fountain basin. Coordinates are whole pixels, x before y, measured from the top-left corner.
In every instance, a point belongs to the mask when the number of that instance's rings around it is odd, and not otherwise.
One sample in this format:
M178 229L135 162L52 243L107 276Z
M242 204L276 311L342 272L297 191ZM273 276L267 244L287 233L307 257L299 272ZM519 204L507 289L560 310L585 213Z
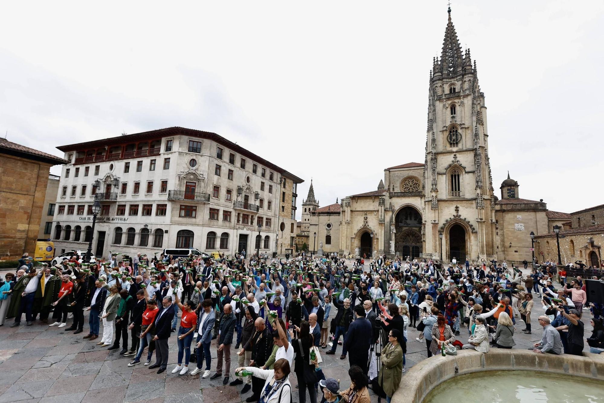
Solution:
M495 370L536 370L604 381L604 357L590 353L583 356L536 354L515 349L491 349L484 354L460 350L456 356L434 356L414 365L401 379L392 402L422 403L433 388L454 376Z

